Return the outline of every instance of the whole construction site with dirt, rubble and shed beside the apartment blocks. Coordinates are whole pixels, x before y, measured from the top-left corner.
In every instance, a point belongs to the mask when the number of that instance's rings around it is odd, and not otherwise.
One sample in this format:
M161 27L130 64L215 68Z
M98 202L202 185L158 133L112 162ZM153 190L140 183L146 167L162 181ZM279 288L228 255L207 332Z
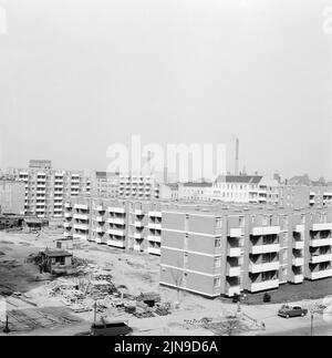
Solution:
M114 319L128 321L132 335L264 335L278 329L278 317L271 315L276 304L240 306L160 287L157 256L86 241L55 248L61 238L61 229L51 228L0 232L1 335L76 335L95 321ZM307 304L323 316L322 299Z

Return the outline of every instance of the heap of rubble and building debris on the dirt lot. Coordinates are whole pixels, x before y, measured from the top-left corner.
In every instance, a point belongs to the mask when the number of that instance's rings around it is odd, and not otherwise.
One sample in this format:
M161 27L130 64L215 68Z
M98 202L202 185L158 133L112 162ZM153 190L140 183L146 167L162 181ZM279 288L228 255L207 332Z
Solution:
M156 293L133 296L126 286L116 287L110 268L100 268L84 260L77 260L75 265L82 274L59 277L46 285L48 295L56 297L74 313L95 309L98 314L128 314L137 318L170 314L170 304L162 303Z

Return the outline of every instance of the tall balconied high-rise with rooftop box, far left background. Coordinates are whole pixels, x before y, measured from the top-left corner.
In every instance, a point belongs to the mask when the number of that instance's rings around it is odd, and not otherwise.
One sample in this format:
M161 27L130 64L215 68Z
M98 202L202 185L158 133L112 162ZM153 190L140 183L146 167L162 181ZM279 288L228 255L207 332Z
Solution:
M91 192L83 172L54 170L51 161L32 160L28 168L11 168L10 174L24 183L24 214L38 217L63 217L66 198Z

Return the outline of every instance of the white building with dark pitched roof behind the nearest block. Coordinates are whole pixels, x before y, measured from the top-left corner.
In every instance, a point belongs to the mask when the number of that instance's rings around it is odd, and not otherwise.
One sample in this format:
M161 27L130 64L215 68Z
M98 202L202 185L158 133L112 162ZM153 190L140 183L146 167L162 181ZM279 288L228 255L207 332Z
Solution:
M279 183L261 175L219 175L211 193L216 201L277 205Z

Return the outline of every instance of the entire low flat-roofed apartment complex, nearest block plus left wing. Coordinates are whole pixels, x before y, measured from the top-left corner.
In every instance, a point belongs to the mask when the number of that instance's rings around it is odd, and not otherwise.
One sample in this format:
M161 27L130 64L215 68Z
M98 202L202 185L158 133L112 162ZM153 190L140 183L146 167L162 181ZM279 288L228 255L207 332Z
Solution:
M79 196L64 236L160 256L160 284L208 297L332 276L331 207Z

